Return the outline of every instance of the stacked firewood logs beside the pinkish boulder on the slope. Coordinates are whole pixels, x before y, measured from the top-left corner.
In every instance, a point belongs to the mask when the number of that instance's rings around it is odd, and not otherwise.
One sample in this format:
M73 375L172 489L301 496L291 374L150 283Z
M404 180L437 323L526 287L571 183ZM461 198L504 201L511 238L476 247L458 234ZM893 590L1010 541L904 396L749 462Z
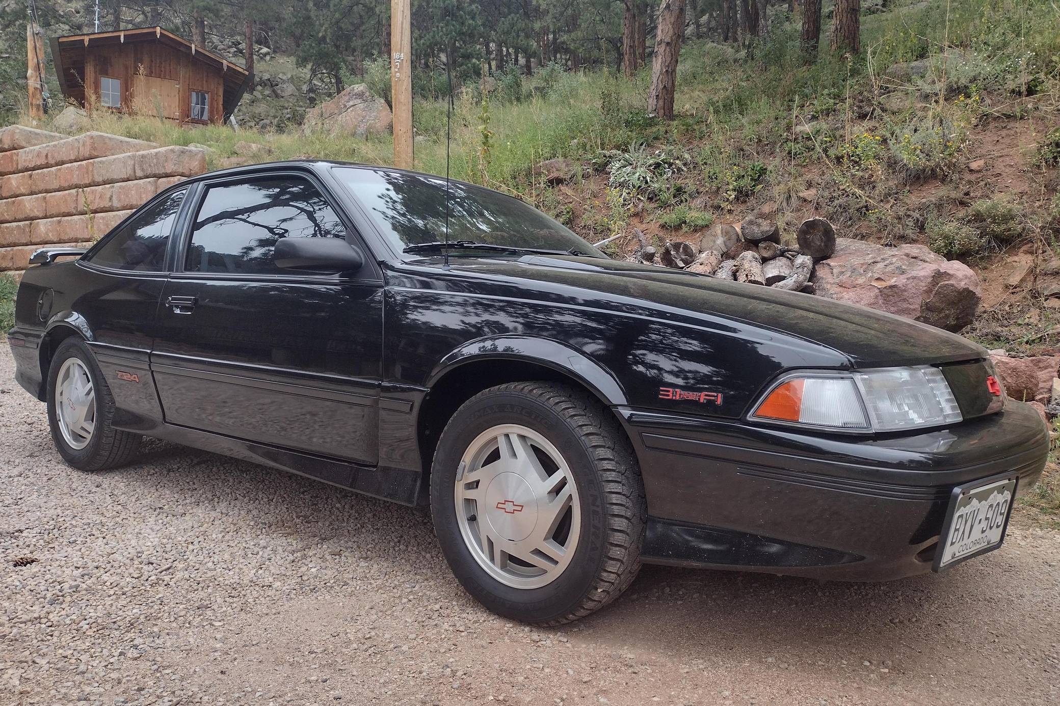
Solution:
M835 230L824 218L803 220L795 233L798 247L780 244L773 220L752 215L739 225L711 226L696 247L667 241L661 250L650 246L639 230L640 248L634 260L646 264L687 269L720 280L763 284L792 292L813 292L813 264L835 251Z

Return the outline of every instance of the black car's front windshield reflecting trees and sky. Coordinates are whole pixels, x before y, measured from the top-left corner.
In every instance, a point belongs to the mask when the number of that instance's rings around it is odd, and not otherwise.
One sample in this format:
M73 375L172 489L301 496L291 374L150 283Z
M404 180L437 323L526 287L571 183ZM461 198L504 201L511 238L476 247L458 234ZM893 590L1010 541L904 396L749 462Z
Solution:
M336 167L335 175L365 205L394 249L401 251L410 245L445 239L445 179L344 166ZM606 257L537 209L511 196L456 181L449 186L448 240ZM477 258L506 257L502 250L466 253Z

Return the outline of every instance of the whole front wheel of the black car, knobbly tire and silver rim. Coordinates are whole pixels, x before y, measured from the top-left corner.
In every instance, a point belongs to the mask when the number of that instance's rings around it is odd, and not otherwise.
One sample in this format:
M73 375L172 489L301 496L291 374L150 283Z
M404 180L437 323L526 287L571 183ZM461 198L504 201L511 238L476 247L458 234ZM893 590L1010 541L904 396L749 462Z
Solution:
M457 580L506 618L577 620L640 569L647 505L636 457L614 416L575 387L511 383L465 402L439 439L430 509Z

